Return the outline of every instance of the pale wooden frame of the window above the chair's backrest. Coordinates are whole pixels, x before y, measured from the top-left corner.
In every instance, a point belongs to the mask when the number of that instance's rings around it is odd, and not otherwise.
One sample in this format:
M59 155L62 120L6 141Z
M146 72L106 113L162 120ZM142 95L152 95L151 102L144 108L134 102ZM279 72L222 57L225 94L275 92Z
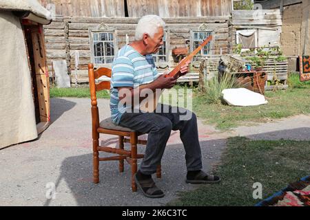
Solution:
M114 28L110 28L104 23L101 23L97 28L89 29L89 37L90 37L90 60L94 64L95 67L108 67L112 68L112 63L95 63L95 54L94 54L94 34L99 33L112 33L113 34L113 40L110 42L114 43L114 57L118 53L118 44L117 44L117 30ZM105 41L103 41L105 42ZM108 41L109 42L109 41ZM103 54L103 57L105 57L105 54Z

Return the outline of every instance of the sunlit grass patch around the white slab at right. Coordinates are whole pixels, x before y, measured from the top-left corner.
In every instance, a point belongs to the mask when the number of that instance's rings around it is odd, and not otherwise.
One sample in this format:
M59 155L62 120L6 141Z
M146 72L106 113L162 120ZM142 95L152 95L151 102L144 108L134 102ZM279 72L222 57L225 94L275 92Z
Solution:
M193 110L206 123L214 124L221 130L310 113L310 82L300 82L298 77L296 74L289 77L287 90L266 91L268 104L254 107L209 104L205 94L196 93L193 99Z

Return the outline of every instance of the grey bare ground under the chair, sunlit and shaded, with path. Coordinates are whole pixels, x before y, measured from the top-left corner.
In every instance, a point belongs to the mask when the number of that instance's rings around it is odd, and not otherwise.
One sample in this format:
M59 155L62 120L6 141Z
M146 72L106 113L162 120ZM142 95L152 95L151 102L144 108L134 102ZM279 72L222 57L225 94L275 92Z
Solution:
M118 162L100 163L100 182L92 183L90 99L52 98L51 121L37 140L0 150L0 206L164 206L178 192L197 186L186 184L185 151L178 132L172 131L162 160L162 178L156 184L165 192L149 199L132 192L130 166L118 172ZM110 115L109 100L99 100L100 117ZM198 121L204 170L220 162L229 136L256 140L310 140L310 115L216 131ZM102 135L101 144L116 146L115 136ZM143 152L143 146L138 151ZM225 179L223 179L225 181ZM50 192L55 192L50 198Z

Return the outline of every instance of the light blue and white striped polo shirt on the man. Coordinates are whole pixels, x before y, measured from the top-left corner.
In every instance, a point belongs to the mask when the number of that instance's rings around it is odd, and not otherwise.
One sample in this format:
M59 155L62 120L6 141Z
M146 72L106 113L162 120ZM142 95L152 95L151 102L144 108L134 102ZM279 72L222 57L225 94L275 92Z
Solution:
M132 106L118 107L117 87L133 87L152 83L158 77L152 54L141 55L130 45L125 45L118 51L112 64L112 78L110 89L111 118L118 124L121 115Z

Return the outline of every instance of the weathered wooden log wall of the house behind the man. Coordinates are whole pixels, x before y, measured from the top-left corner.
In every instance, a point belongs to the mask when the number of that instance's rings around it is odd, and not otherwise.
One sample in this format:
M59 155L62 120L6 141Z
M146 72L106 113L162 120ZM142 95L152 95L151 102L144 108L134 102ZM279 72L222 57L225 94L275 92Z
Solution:
M71 2L71 3L70 3ZM213 32L214 41L211 54L226 54L229 52L229 14L230 0L214 1L48 1L41 0L44 6L54 3L56 18L50 25L45 25L45 42L48 56L48 68L52 72L52 61L66 60L68 72L75 69L75 53L79 52L79 78L87 80L87 64L91 62L89 29L104 24L117 32L117 47L120 49L126 43L126 34L130 42L134 40L134 30L138 16L158 14L163 17L167 30L167 63L158 65L161 72L164 67L173 68L177 63L172 57L175 47L185 47L186 41L191 41L191 31L198 30L205 24L208 31ZM112 1L111 1L112 2ZM104 4L105 3L105 4ZM109 5L110 14L107 10ZM120 6L121 10L114 10ZM125 10L127 8L127 10ZM124 12L125 10L125 12ZM124 12L122 14L122 12ZM62 13L62 14L61 14ZM128 17L125 17L127 15ZM200 63L193 63L192 71L198 74ZM197 75L198 76L198 75ZM198 80L198 78L197 78Z

